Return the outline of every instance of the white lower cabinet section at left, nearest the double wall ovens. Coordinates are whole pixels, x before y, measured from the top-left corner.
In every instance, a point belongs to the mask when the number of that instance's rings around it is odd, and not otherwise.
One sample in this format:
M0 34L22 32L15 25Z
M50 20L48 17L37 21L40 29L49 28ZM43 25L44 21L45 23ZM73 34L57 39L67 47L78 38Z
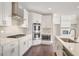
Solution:
M19 55L23 55L32 46L31 36L27 35L19 39Z

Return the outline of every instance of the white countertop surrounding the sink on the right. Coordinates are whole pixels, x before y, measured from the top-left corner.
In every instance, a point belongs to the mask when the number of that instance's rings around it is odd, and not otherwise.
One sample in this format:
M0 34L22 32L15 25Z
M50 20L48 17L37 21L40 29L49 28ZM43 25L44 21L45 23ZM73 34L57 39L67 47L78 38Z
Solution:
M79 43L68 43L61 40L61 38L64 38L63 36L56 36L56 38L63 44L63 46L74 56L79 56ZM71 38L73 40L73 37L66 37ZM77 42L79 39L77 39Z

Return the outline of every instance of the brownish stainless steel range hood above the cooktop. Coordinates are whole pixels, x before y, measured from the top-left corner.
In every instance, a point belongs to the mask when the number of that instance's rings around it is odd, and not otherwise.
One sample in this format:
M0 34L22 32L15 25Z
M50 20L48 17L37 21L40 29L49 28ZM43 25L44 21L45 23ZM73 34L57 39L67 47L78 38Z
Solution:
M19 8L18 2L12 2L12 16L17 18L23 18L24 11Z

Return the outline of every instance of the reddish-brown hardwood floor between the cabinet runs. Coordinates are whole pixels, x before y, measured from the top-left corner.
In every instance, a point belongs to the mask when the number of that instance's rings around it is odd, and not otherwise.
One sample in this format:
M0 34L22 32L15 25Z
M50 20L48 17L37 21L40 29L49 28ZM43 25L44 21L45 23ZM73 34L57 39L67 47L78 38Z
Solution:
M23 56L54 56L51 45L37 45L31 47Z

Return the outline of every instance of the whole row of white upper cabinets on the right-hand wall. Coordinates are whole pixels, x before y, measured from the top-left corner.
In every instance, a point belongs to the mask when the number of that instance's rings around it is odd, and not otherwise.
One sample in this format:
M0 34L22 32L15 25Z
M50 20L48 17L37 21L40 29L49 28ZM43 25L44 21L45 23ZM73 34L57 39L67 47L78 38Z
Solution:
M70 27L72 24L77 24L77 16L54 14L53 24L60 24L61 27Z

